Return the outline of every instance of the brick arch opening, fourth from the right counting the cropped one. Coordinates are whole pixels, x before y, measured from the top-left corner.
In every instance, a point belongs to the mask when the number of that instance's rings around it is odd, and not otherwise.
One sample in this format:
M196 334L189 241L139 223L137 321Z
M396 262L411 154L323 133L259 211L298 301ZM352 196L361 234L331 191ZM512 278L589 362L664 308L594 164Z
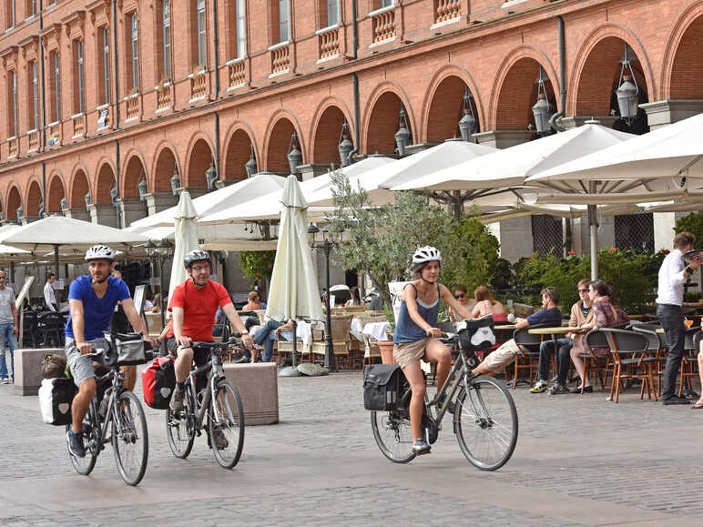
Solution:
M461 137L459 133L459 120L464 117L464 93L467 86L464 80L458 76L447 76L434 90L430 110L427 113L427 142L441 143L452 137ZM471 94L471 91L469 91ZM481 127L478 120L478 111L471 96L471 107L473 109L474 133Z

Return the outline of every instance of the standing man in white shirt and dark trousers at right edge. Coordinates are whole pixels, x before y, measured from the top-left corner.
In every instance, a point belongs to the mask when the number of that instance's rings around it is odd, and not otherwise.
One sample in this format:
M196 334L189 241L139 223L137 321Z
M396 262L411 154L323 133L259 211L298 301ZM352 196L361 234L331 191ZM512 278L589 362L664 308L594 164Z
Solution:
M662 404L689 404L685 398L678 398L675 394L677 386L678 368L684 353L684 340L686 326L681 305L684 301L684 283L698 269L700 260L696 259L686 266L684 253L693 248L696 235L684 231L674 237L674 250L667 254L667 258L659 268L659 288L657 289L657 317L661 322L664 333L667 335L668 353L667 368L664 370L664 381L661 389Z

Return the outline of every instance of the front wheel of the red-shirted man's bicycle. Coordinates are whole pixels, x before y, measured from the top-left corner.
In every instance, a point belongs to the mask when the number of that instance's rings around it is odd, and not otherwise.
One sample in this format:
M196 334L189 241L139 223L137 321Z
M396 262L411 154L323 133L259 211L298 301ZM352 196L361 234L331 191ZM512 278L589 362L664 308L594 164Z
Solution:
M231 469L244 446L244 408L239 391L229 380L220 380L208 410L208 434L212 453L220 466Z

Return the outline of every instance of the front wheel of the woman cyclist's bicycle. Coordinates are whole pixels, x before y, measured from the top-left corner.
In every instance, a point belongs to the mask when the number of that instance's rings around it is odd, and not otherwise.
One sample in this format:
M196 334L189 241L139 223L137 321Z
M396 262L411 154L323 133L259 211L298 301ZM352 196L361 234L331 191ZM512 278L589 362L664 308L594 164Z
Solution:
M517 410L510 392L493 377L470 380L456 401L454 431L464 456L475 467L501 468L517 442Z

